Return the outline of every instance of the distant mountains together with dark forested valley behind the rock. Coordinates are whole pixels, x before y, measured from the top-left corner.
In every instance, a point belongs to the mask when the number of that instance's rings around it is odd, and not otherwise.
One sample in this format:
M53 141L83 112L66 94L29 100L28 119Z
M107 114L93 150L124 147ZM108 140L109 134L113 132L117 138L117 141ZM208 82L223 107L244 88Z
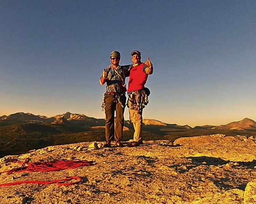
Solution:
M133 126L124 122L123 141L133 138ZM201 135L255 135L256 122L249 118L213 126L168 124L154 119L143 119L143 140L170 140ZM15 113L0 117L0 156L26 153L53 145L105 140L105 119L84 114L64 113L52 117Z

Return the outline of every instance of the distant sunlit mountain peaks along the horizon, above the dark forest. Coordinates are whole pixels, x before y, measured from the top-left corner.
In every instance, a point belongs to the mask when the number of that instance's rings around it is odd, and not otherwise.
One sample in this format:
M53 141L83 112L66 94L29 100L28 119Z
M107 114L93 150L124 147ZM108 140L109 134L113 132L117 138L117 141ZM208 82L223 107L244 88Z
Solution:
M31 113L14 113L9 116L3 115L0 116L0 126L4 126L6 124L19 124L19 123L52 123L52 124L63 124L63 123L80 123L80 124L87 124L90 127L93 126L104 126L105 120L104 119L97 119L93 117L88 117L84 114L74 114L74 113L64 113L52 117L40 116L40 115L33 115ZM225 125L203 125L203 126L195 126L191 128L189 125L177 125L177 124L168 124L161 122L155 119L143 119L144 125L156 125L156 126L163 126L163 128L167 127L174 127L180 129L219 129L219 130L256 130L256 122L249 118L244 118L237 122L230 122ZM125 121L125 126L129 128L130 121Z

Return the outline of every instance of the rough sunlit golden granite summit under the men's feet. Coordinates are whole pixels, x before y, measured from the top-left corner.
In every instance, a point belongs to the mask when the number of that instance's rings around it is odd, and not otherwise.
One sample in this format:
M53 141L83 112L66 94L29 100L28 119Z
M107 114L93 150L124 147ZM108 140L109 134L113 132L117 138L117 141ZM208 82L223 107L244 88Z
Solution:
M58 172L2 173L1 184L52 181L66 176L80 176L83 182L70 186L2 186L0 203L255 203L255 136L208 135L179 138L173 144L169 140L143 143L134 148L88 150L91 143L83 142L3 157L1 172L18 167L13 163L15 158L94 163Z

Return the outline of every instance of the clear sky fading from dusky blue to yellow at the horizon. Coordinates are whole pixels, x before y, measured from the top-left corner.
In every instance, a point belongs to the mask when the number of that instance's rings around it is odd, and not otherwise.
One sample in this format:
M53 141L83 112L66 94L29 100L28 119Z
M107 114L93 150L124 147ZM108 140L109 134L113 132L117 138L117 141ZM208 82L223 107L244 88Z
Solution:
M151 58L144 118L256 120L255 0L1 0L0 116L104 118L99 77L113 50L121 65L132 64L132 50Z

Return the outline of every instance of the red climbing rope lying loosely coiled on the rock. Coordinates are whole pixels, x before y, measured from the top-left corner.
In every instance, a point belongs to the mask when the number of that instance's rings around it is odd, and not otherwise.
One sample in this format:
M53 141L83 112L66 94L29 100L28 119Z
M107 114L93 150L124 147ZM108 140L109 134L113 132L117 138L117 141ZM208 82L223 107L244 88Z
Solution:
M22 166L18 168L13 168L8 171L0 172L6 173L7 175L11 173L20 173L24 171L28 172L35 172L35 171L61 171L65 169L74 169L77 167L83 167L83 166L88 166L93 161L87 161L87 160L79 160L79 159L74 159L74 160L67 160L67 159L60 159L60 160L55 160L53 162L34 162L34 163L26 163L27 159L25 159L25 162L21 162L19 160L15 160L14 163L22 164ZM71 181L72 179L76 179L78 181L76 182L70 182L70 183L65 183L67 181ZM23 183L36 183L36 184L52 184L52 183L57 183L57 185L62 186L62 185L72 185L72 184L77 184L82 181L82 178L79 176L68 176L65 179L59 179L55 181L20 181L20 182L12 182L12 183L5 183L5 184L0 184L1 186L11 186L11 185L18 185L18 184L23 184Z

